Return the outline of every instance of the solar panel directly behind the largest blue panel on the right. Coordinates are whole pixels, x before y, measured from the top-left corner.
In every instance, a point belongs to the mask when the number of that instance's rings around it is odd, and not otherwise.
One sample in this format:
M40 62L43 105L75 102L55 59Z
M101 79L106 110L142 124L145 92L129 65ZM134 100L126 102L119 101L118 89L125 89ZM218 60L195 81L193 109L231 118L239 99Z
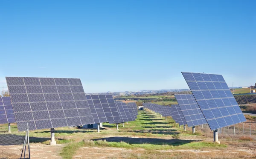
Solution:
M175 95L188 127L207 124L204 115L192 94Z

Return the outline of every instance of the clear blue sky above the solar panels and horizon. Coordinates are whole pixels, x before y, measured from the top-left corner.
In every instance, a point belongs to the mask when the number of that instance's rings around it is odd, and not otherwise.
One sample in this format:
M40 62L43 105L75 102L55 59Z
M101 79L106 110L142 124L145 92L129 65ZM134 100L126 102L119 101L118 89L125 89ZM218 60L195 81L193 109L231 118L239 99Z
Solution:
M81 78L87 93L188 88L181 71L256 83L255 0L0 1L5 76Z

